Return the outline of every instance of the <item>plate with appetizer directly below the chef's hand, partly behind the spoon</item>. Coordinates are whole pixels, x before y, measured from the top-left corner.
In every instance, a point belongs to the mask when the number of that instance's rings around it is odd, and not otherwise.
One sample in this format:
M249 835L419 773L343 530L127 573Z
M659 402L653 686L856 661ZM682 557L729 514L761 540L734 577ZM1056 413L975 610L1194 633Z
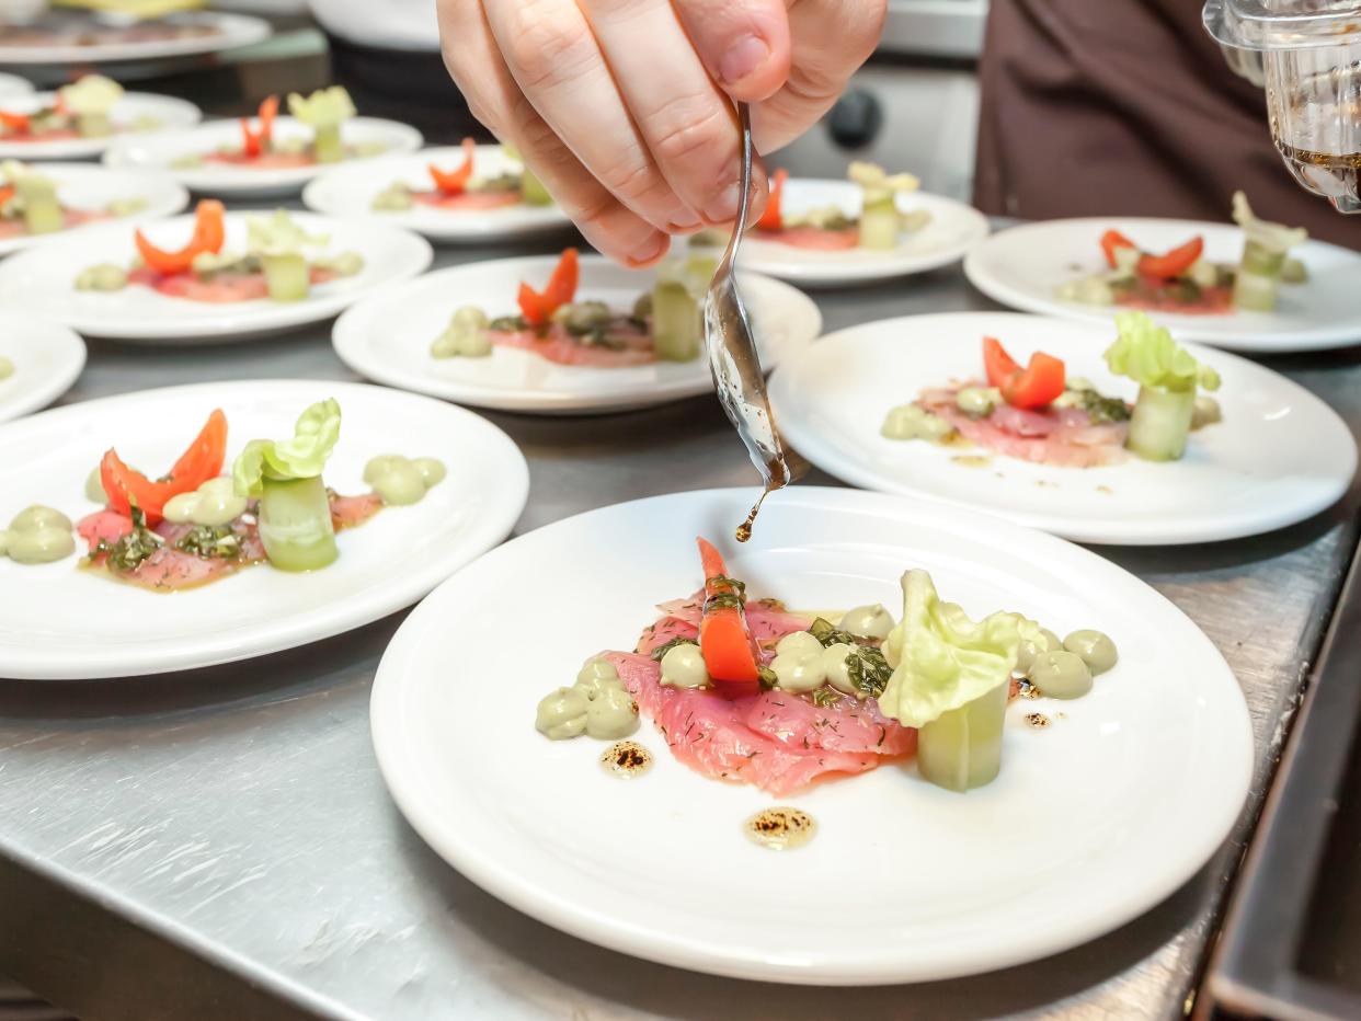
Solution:
M359 302L332 339L365 377L460 404L538 414L648 407L713 391L698 357L712 272L708 255L646 270L574 252L465 263ZM0 293L3 276L0 265ZM742 286L761 324L762 363L817 338L822 319L806 294L746 272Z

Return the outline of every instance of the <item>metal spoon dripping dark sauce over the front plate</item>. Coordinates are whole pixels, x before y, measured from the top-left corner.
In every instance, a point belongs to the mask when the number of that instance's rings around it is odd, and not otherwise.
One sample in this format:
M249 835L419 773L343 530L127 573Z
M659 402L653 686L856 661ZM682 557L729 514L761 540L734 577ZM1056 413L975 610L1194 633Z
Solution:
M732 225L732 237L728 238L728 248L704 298L704 343L723 410L736 426L738 436L765 483L761 498L751 508L747 520L738 527L738 542L746 542L751 538L751 525L761 509L761 501L768 493L789 483L789 464L785 461L780 433L776 432L774 417L770 414L765 373L761 372L751 320L738 291L738 246L742 244L747 207L751 203L751 112L746 103L738 103L738 121L742 127L742 201L738 219Z

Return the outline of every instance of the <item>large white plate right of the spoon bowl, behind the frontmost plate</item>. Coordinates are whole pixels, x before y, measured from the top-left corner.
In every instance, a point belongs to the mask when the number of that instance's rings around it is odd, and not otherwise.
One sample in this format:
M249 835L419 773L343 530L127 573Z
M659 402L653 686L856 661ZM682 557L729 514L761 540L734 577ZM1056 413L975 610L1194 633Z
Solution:
M1003 515L1070 539L1168 545L1255 535L1334 504L1351 482L1357 449L1327 404L1243 358L1187 349L1224 377L1224 422L1192 433L1185 457L1131 457L1100 468L1056 468L919 441L886 440L889 408L925 387L981 378L984 336L1021 362L1036 350L1067 362L1102 393L1132 400L1138 385L1101 358L1109 327L1007 312L908 316L842 329L776 372L770 400L785 438L856 486L943 500Z

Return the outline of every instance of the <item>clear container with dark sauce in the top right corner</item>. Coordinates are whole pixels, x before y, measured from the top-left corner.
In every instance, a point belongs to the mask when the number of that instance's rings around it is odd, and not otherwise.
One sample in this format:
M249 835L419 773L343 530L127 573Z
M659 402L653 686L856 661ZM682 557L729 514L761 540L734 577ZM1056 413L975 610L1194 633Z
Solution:
M1266 87L1294 178L1361 212L1361 0L1209 0L1204 26L1229 67Z

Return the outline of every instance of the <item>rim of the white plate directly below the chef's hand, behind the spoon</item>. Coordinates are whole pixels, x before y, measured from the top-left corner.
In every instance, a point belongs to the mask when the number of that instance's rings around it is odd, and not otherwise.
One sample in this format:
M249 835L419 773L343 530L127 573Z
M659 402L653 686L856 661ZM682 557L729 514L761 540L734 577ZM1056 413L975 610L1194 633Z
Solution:
M528 255L528 256L510 256L508 259L487 259L482 261L468 261L459 263L456 265L446 265L433 272L422 274L414 279L403 280L396 286L400 287L415 287L415 286L430 286L429 282L444 279L446 276L457 275L460 271L472 268L485 268L489 265L506 265L510 264L546 264L550 265L557 259L553 255ZM581 256L583 270L588 265L604 265L615 267L602 255L585 253ZM648 270L640 270L637 272L648 272ZM787 280L777 280L766 274L758 274L755 271L742 271L743 276L750 276L759 279L762 286L774 286L787 291L787 297L792 302L802 302L806 306L806 312L811 313L813 331L810 338L810 344L817 343L818 336L822 334L822 309L818 304L813 301L807 294L800 291L792 283ZM578 395L532 395L524 396L524 391L519 391L520 396L508 396L505 391L463 385L449 387L448 389L434 389L434 388L416 388L412 389L408 377L404 373L399 373L395 369L388 370L382 363L363 362L361 358L355 357L355 351L362 351L367 347L367 327L370 320L378 314L377 306L380 301L389 299L396 295L396 286L392 290L376 291L366 295L362 301L357 301L348 309L346 309L335 321L331 329L331 346L335 350L336 357L344 362L346 368L351 372L358 373L363 378L373 380L385 387L395 387L397 389L406 389L412 393L423 393L426 396L438 398L440 400L449 400L459 404L468 404L471 407L480 407L493 411L516 411L520 414L539 414L539 415L554 415L554 414L611 414L617 411L627 411L640 407L655 407L660 404L668 404L676 400L685 400L687 398L698 396L706 393L712 384L687 383L685 385L672 385L664 392L651 392L648 395L617 395L608 398L583 398ZM780 359L770 361L770 366L778 365ZM770 368L768 366L768 368ZM457 392L456 392L457 391Z

